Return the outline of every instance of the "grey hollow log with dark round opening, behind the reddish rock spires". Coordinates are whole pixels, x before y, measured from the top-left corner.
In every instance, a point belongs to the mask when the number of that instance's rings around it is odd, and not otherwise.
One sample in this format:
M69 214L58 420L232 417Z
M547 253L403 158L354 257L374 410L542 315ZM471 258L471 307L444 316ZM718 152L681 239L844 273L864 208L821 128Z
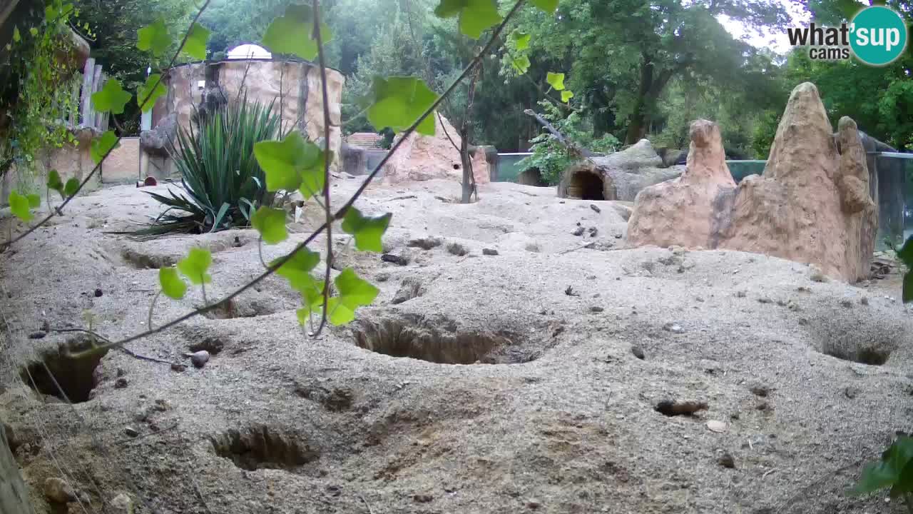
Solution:
M676 178L685 168L664 166L653 145L641 139L621 152L592 157L569 167L561 174L558 196L633 201L644 187Z

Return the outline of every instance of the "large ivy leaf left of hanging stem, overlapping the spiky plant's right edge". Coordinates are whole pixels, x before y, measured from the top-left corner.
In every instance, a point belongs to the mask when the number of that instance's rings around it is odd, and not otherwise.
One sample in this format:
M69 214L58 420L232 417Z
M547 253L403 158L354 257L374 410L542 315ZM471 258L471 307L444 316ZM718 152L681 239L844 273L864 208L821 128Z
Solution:
M305 140L298 131L282 141L261 141L254 145L257 163L267 176L268 191L294 191L302 187L306 198L323 189L326 153Z

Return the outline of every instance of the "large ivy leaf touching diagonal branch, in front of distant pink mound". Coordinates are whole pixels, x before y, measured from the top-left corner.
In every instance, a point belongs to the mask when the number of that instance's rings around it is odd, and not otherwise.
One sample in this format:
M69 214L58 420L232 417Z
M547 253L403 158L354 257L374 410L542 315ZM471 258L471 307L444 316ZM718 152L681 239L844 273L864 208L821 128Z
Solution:
M394 132L404 131L440 97L416 77L375 77L371 91L373 103L368 107L368 121L378 131L385 127ZM415 130L419 134L435 135L435 117L425 117Z

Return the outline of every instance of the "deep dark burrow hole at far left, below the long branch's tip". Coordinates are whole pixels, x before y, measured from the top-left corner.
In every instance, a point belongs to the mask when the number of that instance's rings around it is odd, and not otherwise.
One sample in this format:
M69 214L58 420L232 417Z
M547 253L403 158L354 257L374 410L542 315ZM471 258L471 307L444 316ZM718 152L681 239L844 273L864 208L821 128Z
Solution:
M95 369L108 350L90 350L88 340L73 340L55 351L42 354L19 371L28 387L64 402L89 401L89 393L98 385Z

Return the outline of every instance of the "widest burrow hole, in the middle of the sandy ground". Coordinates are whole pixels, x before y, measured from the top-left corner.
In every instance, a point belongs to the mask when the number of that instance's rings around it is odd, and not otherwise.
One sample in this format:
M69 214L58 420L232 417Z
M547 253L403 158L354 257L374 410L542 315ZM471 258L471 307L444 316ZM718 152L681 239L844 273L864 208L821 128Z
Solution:
M453 322L363 318L352 332L360 348L436 364L521 364L538 359L541 353L515 334L461 331Z

